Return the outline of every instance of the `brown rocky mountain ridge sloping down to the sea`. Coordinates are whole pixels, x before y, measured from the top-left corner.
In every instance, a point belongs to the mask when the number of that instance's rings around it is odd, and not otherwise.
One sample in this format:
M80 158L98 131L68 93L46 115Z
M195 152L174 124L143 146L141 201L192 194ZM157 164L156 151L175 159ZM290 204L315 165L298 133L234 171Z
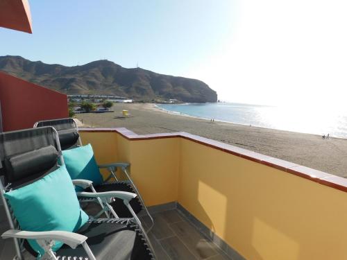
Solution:
M141 68L126 69L108 60L67 67L32 62L20 56L0 56L0 70L65 94L108 94L142 101L162 98L192 103L217 101L217 93L200 80Z

